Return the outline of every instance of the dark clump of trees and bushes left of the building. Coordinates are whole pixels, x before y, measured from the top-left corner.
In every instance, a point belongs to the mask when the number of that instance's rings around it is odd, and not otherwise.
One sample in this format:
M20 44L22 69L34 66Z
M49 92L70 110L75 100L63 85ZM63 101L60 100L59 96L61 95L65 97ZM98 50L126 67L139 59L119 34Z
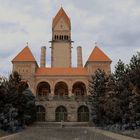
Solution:
M17 72L0 79L0 127L15 131L35 121L35 97Z

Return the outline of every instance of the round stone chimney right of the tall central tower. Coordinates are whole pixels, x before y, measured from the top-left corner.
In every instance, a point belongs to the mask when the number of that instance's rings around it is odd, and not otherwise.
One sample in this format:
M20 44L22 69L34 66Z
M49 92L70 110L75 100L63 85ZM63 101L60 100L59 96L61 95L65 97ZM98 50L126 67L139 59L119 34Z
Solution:
M77 67L83 67L82 47L77 47Z

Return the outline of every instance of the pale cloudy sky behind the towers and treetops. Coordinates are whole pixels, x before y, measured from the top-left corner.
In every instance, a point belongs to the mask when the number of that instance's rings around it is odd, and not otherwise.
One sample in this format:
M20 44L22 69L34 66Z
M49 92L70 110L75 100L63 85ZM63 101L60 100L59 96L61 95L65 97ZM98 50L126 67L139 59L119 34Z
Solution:
M72 65L76 47L87 61L97 42L112 59L128 63L140 51L140 0L0 0L0 75L12 70L11 60L28 45L38 64L40 48L47 47L50 66L52 18L61 6L71 19Z

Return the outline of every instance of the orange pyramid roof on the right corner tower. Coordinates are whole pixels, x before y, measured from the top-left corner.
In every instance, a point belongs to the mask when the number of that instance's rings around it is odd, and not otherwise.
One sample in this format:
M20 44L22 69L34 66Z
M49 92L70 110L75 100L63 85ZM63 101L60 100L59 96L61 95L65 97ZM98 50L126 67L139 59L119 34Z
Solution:
M88 58L88 61L107 61L112 62L111 59L97 46L93 49L91 55Z

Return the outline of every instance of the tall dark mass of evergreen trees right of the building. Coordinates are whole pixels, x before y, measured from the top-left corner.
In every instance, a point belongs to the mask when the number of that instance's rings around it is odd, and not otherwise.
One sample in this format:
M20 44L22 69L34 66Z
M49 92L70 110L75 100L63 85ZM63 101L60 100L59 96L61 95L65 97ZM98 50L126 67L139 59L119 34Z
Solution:
M113 75L97 70L89 81L89 92L95 125L111 124L123 130L139 127L140 53L134 55L128 65L119 60Z

